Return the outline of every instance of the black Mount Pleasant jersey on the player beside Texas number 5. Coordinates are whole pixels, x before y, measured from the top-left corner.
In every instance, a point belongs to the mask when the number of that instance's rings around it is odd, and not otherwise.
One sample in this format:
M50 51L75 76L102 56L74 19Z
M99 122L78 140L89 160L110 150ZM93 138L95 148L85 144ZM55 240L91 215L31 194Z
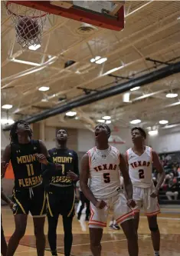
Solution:
M71 178L67 177L67 171L74 171L79 175L77 153L68 148L52 148L49 150L49 155L54 164L62 165L61 171L53 171L51 185L73 185Z

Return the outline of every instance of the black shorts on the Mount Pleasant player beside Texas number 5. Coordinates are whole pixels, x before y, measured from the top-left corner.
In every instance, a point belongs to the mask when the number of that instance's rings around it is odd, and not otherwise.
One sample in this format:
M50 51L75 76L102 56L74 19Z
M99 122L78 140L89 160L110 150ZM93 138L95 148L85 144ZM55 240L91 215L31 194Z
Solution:
M74 216L75 191L74 186L55 187L51 185L47 193L47 215L48 217Z

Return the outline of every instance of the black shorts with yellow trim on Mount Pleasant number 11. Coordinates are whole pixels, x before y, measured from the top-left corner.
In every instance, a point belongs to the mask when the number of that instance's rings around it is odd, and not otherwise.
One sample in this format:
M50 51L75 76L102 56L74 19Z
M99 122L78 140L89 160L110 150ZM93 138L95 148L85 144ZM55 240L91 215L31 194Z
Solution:
M32 217L46 216L46 194L42 184L34 188L14 188L12 199L15 203L14 215L30 212Z

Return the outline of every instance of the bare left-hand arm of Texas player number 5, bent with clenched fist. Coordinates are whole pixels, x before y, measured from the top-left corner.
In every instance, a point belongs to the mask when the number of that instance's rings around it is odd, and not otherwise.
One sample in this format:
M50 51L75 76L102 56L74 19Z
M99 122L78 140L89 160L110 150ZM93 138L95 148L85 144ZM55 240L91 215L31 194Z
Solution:
M93 196L93 193L88 187L88 178L90 176L89 168L89 156L87 154L83 155L83 158L80 162L80 189L83 191L85 197L96 206L97 199Z

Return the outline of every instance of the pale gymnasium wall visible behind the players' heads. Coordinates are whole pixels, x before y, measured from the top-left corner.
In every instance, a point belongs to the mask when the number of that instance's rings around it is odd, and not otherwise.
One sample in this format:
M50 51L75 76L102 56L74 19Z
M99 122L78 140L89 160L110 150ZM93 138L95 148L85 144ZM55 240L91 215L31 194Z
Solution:
M44 129L44 141L48 149L54 148L56 145L55 136L57 128L45 127ZM36 132L38 131L38 132ZM68 146L79 152L86 152L87 149L93 148L94 138L93 132L85 129L67 128L69 135ZM132 146L130 129L121 128L119 131L112 133L118 135L123 141L126 141L126 148ZM39 127L34 128L34 138L41 138ZM43 138L41 138L43 139ZM164 151L179 151L180 150L180 126L176 128L159 130L159 135L149 136L146 144L151 145L155 151L159 153ZM5 148L9 143L9 131L1 130L1 148ZM124 151L124 149L122 149Z

